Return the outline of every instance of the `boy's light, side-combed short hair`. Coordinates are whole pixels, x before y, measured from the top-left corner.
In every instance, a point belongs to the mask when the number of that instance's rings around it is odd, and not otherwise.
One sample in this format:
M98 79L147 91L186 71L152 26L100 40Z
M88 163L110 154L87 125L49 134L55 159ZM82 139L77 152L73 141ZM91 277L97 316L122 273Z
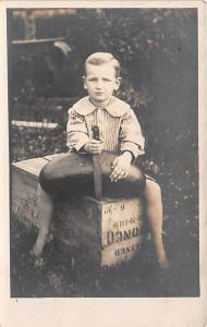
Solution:
M104 63L112 63L115 71L115 77L120 77L120 71L121 71L120 63L113 57L113 55L109 52L95 52L90 55L85 61L85 72L86 72L87 64L100 65Z

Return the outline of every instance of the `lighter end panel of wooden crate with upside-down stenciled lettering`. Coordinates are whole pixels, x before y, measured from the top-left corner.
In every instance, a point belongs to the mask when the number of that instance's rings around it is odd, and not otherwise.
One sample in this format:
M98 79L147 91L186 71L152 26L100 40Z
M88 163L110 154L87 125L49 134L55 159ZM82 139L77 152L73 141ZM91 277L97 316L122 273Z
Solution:
M141 199L106 203L101 210L101 266L132 259L142 242Z

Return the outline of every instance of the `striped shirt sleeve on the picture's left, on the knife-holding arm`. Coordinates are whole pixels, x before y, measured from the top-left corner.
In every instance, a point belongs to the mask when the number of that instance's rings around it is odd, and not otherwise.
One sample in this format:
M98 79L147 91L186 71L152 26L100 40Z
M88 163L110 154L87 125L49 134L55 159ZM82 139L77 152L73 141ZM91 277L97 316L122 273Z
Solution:
M69 109L69 120L66 124L66 146L69 149L77 152L87 143L88 132L83 116L73 108Z

